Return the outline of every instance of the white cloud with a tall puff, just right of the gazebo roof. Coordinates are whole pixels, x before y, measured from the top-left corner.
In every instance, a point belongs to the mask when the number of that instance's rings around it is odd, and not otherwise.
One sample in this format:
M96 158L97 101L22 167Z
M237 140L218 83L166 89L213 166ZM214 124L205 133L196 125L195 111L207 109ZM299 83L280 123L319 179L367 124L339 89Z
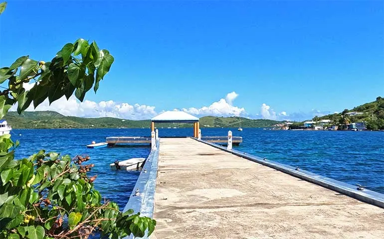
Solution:
M210 106L201 108L183 108L182 111L196 116L245 116L247 113L244 108L232 106L234 99L238 94L236 92L228 93L225 99L213 102Z

